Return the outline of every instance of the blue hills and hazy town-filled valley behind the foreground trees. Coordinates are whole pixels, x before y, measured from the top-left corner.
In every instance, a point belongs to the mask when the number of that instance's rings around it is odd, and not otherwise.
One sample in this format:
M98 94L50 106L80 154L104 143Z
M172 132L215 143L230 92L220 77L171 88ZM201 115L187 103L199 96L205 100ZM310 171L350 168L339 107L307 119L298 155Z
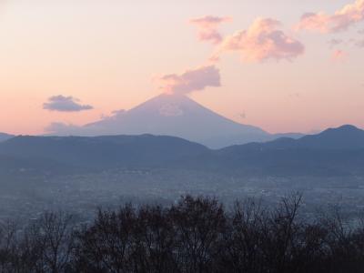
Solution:
M172 136L15 136L0 143L3 218L64 209L171 204L178 197L248 197L275 204L292 192L307 210L364 206L364 131L341 126L299 139L209 149Z

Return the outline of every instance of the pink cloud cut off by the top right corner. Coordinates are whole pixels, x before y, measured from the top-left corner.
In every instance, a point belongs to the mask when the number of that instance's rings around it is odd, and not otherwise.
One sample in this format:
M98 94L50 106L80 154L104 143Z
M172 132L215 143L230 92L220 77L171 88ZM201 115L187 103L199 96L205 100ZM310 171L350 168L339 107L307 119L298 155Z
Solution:
M307 13L302 15L297 25L298 29L318 31L321 33L333 33L346 30L364 20L364 0L357 0L353 4L345 5L334 15L325 13Z

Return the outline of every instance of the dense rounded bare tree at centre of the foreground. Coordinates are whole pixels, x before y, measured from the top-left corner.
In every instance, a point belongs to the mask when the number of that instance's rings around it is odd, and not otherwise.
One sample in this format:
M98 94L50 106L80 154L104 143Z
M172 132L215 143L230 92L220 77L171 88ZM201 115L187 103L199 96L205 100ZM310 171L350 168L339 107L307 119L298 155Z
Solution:
M176 228L179 271L212 272L227 228L222 205L216 199L182 197L168 217Z

